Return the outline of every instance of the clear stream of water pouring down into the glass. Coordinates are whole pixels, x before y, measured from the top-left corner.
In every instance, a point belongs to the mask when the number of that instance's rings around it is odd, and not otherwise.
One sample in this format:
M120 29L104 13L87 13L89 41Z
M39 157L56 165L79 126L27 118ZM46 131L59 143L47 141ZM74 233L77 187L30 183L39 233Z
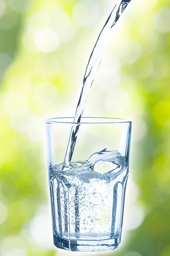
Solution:
M91 52L88 65L85 70L85 76L82 83L82 91L79 97L79 102L74 117L75 124L73 124L71 128L71 134L68 141L67 151L62 166L63 170L65 168L67 169L70 166L80 126L78 123L81 120L81 116L85 107L85 102L87 100L87 96L90 91L91 85L93 84L96 71L98 70L100 62L102 60L102 55L111 39L112 28L117 23L120 15L122 14L122 12L124 12L130 1L131 0L117 0L116 5L114 6L111 14L106 20L105 26L103 27L102 31L99 34L99 37L97 38L94 49Z

